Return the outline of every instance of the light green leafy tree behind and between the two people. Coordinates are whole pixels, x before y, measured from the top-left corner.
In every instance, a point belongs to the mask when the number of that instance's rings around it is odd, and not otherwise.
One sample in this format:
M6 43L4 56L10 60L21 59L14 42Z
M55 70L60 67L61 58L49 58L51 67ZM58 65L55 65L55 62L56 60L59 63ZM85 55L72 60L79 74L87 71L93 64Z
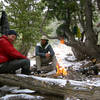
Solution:
M4 0L10 29L19 33L19 50L27 55L31 46L40 39L43 4L37 0Z

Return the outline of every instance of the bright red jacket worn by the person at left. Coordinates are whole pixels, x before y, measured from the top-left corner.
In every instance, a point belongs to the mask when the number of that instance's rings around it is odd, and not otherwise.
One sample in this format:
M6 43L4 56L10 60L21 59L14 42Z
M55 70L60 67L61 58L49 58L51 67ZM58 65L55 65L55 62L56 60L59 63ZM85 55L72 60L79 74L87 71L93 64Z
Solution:
M7 36L3 35L0 37L0 63L13 59L26 59L26 57L14 48Z

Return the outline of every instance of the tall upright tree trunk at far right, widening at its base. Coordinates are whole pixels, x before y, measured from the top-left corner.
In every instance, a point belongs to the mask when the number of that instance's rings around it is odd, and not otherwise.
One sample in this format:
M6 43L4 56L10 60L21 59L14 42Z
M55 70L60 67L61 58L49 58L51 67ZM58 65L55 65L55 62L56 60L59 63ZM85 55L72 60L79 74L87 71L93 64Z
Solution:
M100 49L97 47L97 36L93 30L93 14L92 14L92 1L85 0L85 14L86 14L86 49L91 52L92 57L97 57L100 54Z

